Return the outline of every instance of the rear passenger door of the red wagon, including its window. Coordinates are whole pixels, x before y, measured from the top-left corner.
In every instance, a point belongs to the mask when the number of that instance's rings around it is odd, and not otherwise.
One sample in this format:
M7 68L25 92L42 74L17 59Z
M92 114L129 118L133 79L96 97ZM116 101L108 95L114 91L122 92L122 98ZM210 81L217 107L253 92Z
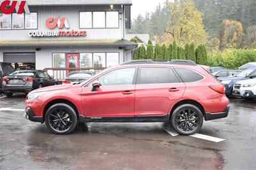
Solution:
M186 86L170 67L140 67L134 97L134 116L164 116L184 94Z

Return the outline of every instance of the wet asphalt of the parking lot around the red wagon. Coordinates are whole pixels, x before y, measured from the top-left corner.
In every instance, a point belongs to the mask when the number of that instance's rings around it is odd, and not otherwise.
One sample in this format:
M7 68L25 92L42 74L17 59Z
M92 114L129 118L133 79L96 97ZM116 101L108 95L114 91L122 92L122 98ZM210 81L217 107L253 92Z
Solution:
M0 98L0 169L256 169L256 101L230 99L227 118L204 122L200 134L170 136L162 123L84 124L51 134L29 122L24 96Z

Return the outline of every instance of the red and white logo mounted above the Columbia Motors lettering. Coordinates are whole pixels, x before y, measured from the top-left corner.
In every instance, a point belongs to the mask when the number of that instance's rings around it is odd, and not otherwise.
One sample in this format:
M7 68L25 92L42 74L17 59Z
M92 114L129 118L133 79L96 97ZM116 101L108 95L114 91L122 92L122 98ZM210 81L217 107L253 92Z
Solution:
M48 18L45 22L45 25L49 28L49 29L54 29L57 27L59 27L59 29L63 29L63 27L65 26L67 29L69 29L69 25L68 25L68 20L67 18Z

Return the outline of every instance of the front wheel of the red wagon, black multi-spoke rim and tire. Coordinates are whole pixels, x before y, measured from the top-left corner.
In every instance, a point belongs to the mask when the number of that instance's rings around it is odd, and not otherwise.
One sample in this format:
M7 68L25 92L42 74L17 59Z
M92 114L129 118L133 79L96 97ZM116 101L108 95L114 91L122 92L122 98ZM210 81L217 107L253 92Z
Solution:
M45 124L54 134L70 134L77 122L76 111L65 103L54 104L45 113Z

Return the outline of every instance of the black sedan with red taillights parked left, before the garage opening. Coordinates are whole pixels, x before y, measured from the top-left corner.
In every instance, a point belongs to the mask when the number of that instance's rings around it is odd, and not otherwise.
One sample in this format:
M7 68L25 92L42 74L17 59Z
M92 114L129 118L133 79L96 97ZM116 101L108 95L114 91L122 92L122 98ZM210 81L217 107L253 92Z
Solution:
M11 97L15 92L28 94L32 90L56 84L45 71L20 70L3 78L3 91L7 97Z

